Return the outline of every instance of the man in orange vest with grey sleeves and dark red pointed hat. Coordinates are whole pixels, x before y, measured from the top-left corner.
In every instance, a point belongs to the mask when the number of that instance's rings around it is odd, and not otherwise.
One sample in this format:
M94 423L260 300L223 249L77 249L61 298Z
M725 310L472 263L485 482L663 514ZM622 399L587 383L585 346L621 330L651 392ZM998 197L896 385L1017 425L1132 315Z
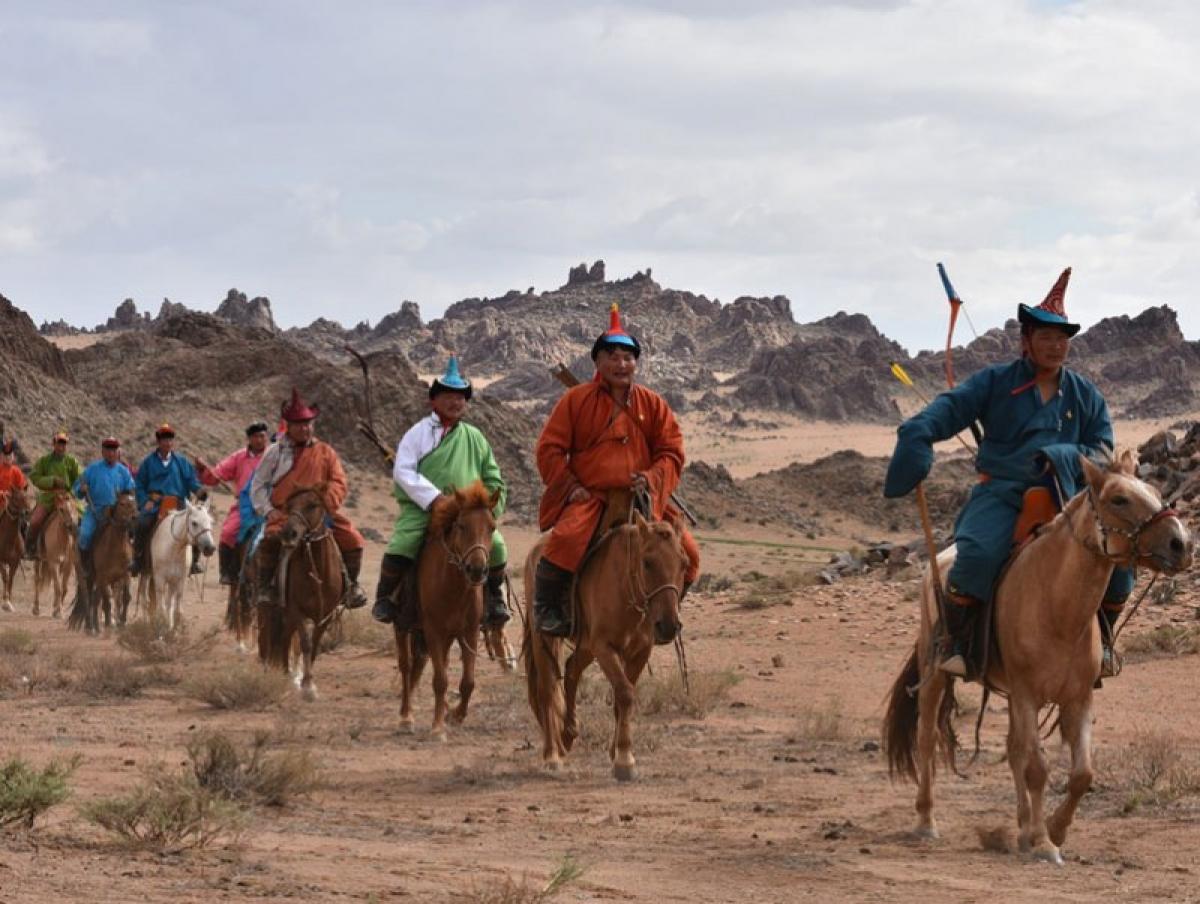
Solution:
M293 389L292 400L284 402L280 412L287 421L287 432L264 453L251 478L250 497L254 511L266 519L266 531L256 553L259 605L275 603L275 573L282 551L280 531L287 521L283 505L293 491L318 485L324 486L330 531L349 577L350 592L346 607L358 609L367 604L367 597L359 586L366 540L350 519L340 511L348 492L346 471L334 447L313 437L312 423L319 413L316 405L306 403L300 393Z

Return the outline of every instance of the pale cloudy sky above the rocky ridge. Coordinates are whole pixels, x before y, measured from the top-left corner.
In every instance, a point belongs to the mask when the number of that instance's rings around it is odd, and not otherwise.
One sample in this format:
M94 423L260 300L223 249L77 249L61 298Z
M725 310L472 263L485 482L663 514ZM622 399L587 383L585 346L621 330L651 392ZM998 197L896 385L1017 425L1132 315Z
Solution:
M0 292L37 321L432 317L604 258L920 348L944 261L980 330L1072 265L1073 317L1200 337L1187 0L42 0L0 38Z

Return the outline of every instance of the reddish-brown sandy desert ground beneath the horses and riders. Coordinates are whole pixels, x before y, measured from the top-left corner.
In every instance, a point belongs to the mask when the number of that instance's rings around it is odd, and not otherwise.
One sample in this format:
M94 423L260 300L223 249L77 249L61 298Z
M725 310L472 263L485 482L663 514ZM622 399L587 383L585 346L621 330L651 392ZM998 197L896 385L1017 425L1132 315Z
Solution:
M1124 424L1118 439L1154 427ZM884 454L893 431L790 423L740 439L690 436L692 457L740 477L847 445ZM380 485L353 516L386 532L391 504ZM520 562L534 534L504 529ZM890 539L917 531L914 514ZM31 830L0 830L0 900L1200 900L1194 576L1148 598L1123 635L1126 670L1098 696L1097 782L1066 864L1054 867L1010 850L1002 700L985 713L978 761L964 758L962 777L940 774L942 839L908 836L914 791L889 782L878 728L913 641L918 575L833 586L810 576L830 552L888 534L842 525L782 538L732 521L700 533L712 579L684 609L691 694L671 648L656 649L635 726L640 774L629 784L608 768L610 710L595 669L584 736L566 771L551 776L522 678L496 663L481 663L470 713L448 742L428 735L427 677L416 731L402 734L390 634L359 612L317 661L317 702L276 687L253 708L222 708L214 687L259 672L227 635L210 636L223 609L215 562L203 588L196 579L188 588L182 641L132 651L115 633L68 633L44 607L34 617L26 570L17 612L0 613L0 760L77 766L68 800ZM372 544L367 585L380 547ZM517 641L520 617L509 635ZM979 694L959 693L970 752ZM154 770L182 774L188 744L211 732L241 746L258 734L269 756L314 764L314 778L296 779L282 806L248 807L240 830L200 849L131 845L84 816L89 804L144 786ZM1048 750L1057 797L1056 738ZM542 893L564 857L582 874Z

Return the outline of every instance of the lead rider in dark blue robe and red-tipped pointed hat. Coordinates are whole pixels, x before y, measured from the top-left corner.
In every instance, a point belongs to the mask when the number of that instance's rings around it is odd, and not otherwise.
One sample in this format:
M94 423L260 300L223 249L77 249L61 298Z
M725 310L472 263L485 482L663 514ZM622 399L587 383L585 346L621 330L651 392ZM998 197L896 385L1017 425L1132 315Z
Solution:
M1038 307L1018 306L1019 360L984 367L900 425L888 467L883 495L905 496L929 474L934 443L976 420L983 425L976 460L979 483L954 525L958 555L947 581L946 630L952 647L941 667L958 677L967 676L966 653L979 604L992 598L1026 491L1045 486L1054 496L1061 493L1061 508L1084 486L1079 455L1112 449L1112 421L1104 397L1091 381L1063 366L1070 337L1079 333L1079 324L1067 321L1063 307L1069 279L1067 268ZM1117 568L1105 591L1102 676L1112 673L1112 624L1133 582L1133 569Z

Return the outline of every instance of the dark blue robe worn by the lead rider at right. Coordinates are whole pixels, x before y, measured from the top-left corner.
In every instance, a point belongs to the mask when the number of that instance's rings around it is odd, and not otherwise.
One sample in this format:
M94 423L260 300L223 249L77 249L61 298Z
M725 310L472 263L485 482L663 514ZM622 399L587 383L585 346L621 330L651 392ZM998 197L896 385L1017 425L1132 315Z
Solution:
M973 420L984 429L976 461L980 483L954 526L958 557L949 582L962 593L990 600L1009 555L1025 491L1046 479L1050 465L1064 497L1074 496L1082 486L1079 455L1111 449L1112 421L1099 390L1066 367L1057 394L1048 402L1042 401L1028 360L985 367L900 426L883 495L895 498L912 492L932 467L932 444ZM1124 599L1132 589L1133 571L1117 569L1105 599Z

